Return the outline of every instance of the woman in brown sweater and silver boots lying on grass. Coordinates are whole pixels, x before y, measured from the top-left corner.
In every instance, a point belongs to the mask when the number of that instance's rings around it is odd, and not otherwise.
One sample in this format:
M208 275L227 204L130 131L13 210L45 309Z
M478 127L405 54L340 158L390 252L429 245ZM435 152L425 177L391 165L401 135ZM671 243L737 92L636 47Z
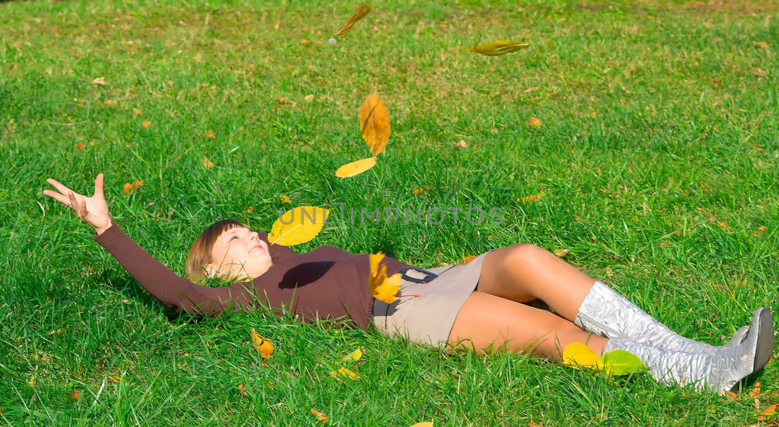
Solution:
M218 316L264 304L301 320L351 320L402 334L426 345L506 346L514 352L559 360L572 342L597 356L615 349L636 355L661 383L693 384L723 393L762 369L774 350L770 311L756 310L752 324L726 345L683 338L654 320L604 282L576 270L547 250L515 244L488 250L473 261L424 270L383 257L386 275L402 274L401 297L387 304L368 290L368 254L322 245L298 254L271 245L266 233L241 222L215 222L189 250L186 275L175 275L141 249L108 215L103 173L86 197L49 178L59 192L44 190L91 226L105 247L144 289L167 307ZM227 287L196 285L205 275L235 281ZM555 311L527 302L541 299Z

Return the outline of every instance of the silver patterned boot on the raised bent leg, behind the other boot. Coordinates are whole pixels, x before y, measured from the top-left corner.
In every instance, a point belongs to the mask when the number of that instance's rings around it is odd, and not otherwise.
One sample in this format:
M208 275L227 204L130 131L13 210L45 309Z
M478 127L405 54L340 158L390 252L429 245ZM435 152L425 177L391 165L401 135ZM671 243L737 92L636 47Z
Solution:
M573 323L606 338L623 338L667 350L708 355L741 344L749 331L749 327L742 327L723 346L684 338L601 281L596 281L584 296Z

